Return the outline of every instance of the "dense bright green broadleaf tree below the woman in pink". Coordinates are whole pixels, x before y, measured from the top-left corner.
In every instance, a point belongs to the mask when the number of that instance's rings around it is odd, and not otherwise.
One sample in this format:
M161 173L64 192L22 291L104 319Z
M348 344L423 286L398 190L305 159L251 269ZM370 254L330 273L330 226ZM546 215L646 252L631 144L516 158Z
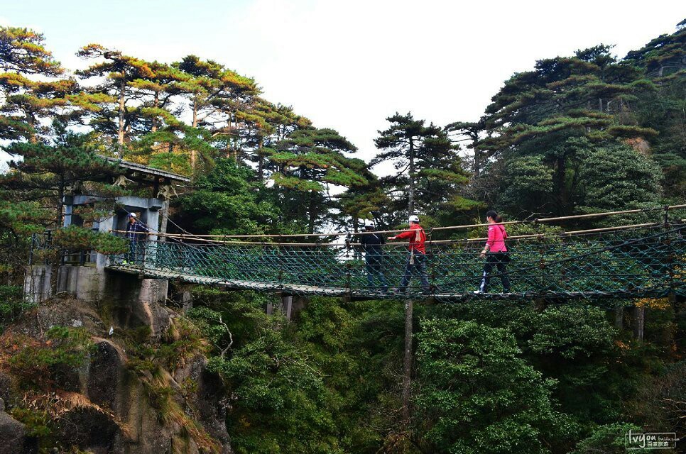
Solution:
M421 325L416 402L432 452L549 452L547 439L564 433L567 417L551 402L555 381L519 358L511 333L475 321Z

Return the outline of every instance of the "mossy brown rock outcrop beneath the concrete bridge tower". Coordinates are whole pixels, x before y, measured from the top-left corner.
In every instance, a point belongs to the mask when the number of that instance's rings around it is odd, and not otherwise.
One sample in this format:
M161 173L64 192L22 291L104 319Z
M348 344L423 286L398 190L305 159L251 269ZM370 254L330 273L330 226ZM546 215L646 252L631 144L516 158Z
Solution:
M221 380L207 372L202 348L175 348L174 342L188 343L187 333L167 334L190 322L158 303L125 313L121 304L113 312L105 303L62 294L0 337L0 398L8 407L0 411L0 454L37 452L39 443L93 454L232 453ZM49 380L37 391L11 358L23 348L54 348L45 338L51 326L86 333L87 346L80 366L50 365ZM172 355L166 363L161 351ZM11 416L13 409L26 424L47 421L50 436L29 436L31 428Z

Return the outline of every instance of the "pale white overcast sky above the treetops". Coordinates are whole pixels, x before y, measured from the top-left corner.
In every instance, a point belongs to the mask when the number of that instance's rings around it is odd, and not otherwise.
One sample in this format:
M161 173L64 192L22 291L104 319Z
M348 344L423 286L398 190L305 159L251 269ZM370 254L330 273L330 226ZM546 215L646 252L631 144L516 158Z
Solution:
M0 0L0 25L45 34L66 67L100 43L146 60L194 53L335 128L361 157L396 111L476 120L513 72L599 43L626 55L686 17L685 1Z

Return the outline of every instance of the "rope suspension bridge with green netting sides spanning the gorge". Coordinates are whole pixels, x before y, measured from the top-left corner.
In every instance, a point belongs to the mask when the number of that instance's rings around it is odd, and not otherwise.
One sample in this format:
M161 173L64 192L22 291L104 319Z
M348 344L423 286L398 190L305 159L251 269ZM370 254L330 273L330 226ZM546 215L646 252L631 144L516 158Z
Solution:
M420 286L418 275L413 275L403 294L393 292L408 260L407 243L402 242L383 246L380 270L389 288L376 280L370 284L359 243L366 232L233 236L151 232L141 234L148 237L137 244L133 255L110 256L108 267L228 289L351 299L666 297L686 294L686 220L675 217L684 209L686 205L677 205L505 222L508 230L533 232L508 238L509 293L499 289L499 274L492 272L492 292L474 294L483 274L479 251L486 238L464 237L483 235L486 224L426 230L428 292ZM554 227L608 221L613 216L646 222L572 231ZM316 241L303 242L303 237Z

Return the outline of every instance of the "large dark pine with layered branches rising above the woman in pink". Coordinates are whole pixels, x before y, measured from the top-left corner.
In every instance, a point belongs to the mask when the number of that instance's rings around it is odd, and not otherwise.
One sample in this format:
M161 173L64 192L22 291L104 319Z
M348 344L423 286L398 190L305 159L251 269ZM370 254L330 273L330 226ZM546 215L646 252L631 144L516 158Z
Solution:
M475 148L489 158L488 178L499 182L494 204L512 199L508 194L516 184L511 177L519 175L521 189L530 186L533 192L518 194L531 204L518 203L516 210L523 213L517 214L570 214L579 203L581 161L575 139L602 145L657 133L639 125L631 108L636 95L653 90L654 84L635 67L617 62L611 48L597 45L573 57L539 60L533 71L515 74L493 97L484 118L486 136ZM530 172L536 175L526 182L522 178ZM536 195L548 187L548 178L550 192ZM529 184L534 181L539 183Z

